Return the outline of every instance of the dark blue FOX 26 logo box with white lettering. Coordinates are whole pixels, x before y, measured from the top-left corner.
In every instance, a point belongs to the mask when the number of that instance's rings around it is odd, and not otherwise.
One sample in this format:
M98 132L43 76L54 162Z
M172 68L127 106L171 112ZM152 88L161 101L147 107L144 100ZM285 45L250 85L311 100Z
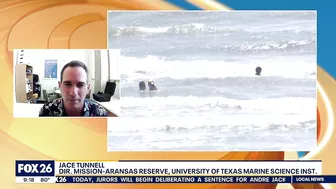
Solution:
M16 176L54 176L54 161L25 161L15 162Z

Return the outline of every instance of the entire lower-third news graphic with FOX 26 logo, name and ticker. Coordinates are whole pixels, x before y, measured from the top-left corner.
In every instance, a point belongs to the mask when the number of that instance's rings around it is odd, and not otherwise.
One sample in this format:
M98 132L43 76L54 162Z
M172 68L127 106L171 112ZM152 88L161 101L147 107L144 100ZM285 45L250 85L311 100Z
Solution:
M336 183L321 161L17 160L17 183Z

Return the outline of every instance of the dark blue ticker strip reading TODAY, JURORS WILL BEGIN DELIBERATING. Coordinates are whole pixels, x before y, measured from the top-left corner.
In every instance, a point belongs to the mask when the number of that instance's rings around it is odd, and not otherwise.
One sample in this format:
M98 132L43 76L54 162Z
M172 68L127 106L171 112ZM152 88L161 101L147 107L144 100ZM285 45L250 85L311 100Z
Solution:
M291 183L291 176L57 176L56 183Z

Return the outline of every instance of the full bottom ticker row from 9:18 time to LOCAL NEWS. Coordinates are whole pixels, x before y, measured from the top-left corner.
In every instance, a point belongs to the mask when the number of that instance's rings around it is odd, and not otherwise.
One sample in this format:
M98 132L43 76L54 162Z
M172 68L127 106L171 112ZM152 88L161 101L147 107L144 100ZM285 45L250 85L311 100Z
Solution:
M336 183L336 175L297 176L56 176L17 177L17 183Z

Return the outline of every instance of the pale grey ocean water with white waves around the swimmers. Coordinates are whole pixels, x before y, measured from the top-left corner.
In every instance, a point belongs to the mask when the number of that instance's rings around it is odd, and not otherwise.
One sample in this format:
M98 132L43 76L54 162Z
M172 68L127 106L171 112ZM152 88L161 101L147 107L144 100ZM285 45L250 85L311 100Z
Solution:
M122 53L111 151L316 146L316 12L109 12L108 46Z

